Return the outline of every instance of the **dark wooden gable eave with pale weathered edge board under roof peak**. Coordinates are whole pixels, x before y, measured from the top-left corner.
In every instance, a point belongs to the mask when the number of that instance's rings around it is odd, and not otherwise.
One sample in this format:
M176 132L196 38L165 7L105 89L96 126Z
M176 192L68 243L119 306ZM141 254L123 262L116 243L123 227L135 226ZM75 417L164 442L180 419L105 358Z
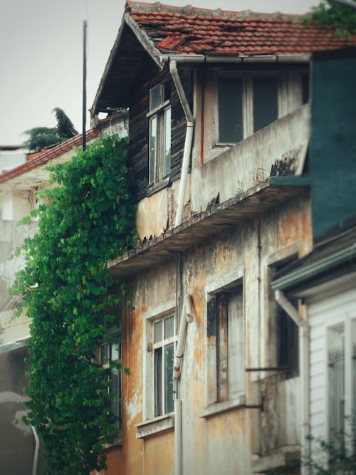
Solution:
M150 56L157 67L163 68L164 63L159 61L159 54L145 31L141 31L130 15L125 14L95 95L92 115L106 113L108 108L129 108L132 85L140 72L144 56Z

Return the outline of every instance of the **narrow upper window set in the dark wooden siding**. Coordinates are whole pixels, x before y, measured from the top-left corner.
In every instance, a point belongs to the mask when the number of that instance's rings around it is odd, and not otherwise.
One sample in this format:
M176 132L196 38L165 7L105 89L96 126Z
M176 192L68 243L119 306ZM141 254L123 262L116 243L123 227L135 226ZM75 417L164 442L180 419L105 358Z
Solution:
M160 182L171 167L171 108L169 85L150 90L149 184Z

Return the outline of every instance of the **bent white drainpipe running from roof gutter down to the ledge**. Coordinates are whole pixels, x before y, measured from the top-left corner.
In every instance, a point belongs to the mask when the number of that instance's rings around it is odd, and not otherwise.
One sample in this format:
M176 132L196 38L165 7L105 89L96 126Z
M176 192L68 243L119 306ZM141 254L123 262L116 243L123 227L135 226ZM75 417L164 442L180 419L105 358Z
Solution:
M174 61L174 60L169 61L169 72L172 75L174 86L177 89L179 100L180 100L180 103L182 104L182 108L184 110L184 114L187 119L187 131L185 134L185 142L184 142L182 173L181 173L180 184L179 184L178 207L177 207L176 220L174 223L174 226L179 226L179 224L182 224L184 196L185 196L185 189L187 187L187 177L188 177L188 169L189 169L189 158L190 158L190 153L192 152L194 117L192 114L192 110L189 107L187 96L184 93L182 81L179 78L178 69L177 69L177 61Z

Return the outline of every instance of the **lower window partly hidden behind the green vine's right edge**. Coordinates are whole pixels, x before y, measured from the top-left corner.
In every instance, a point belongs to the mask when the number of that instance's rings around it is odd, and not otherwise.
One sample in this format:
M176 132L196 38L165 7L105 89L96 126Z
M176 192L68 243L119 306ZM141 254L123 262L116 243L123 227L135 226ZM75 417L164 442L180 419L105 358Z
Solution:
M108 335L112 338L110 343L103 342L99 347L100 365L109 367L109 361L120 361L121 351L121 328L116 326L108 330ZM110 340L111 340L110 338ZM110 369L111 385L108 387L108 393L114 396L111 401L111 412L117 418L117 429L121 427L121 372L118 368Z

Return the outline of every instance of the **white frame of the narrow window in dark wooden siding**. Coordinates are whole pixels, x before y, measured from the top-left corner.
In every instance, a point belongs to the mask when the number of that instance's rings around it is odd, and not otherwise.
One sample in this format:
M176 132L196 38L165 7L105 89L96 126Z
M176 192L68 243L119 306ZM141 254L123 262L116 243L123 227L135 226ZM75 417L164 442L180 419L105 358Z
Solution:
M159 104L152 106L152 95L159 89ZM167 118L167 115L169 117ZM149 93L149 112L146 114L149 124L149 143L148 143L148 188L167 179L171 169L172 152L172 105L169 94L167 94L167 82L159 83L150 88ZM152 124L156 122L156 135L154 156L152 156ZM167 140L167 124L169 124L169 136ZM167 143L169 142L169 156ZM152 176L153 175L153 176Z

